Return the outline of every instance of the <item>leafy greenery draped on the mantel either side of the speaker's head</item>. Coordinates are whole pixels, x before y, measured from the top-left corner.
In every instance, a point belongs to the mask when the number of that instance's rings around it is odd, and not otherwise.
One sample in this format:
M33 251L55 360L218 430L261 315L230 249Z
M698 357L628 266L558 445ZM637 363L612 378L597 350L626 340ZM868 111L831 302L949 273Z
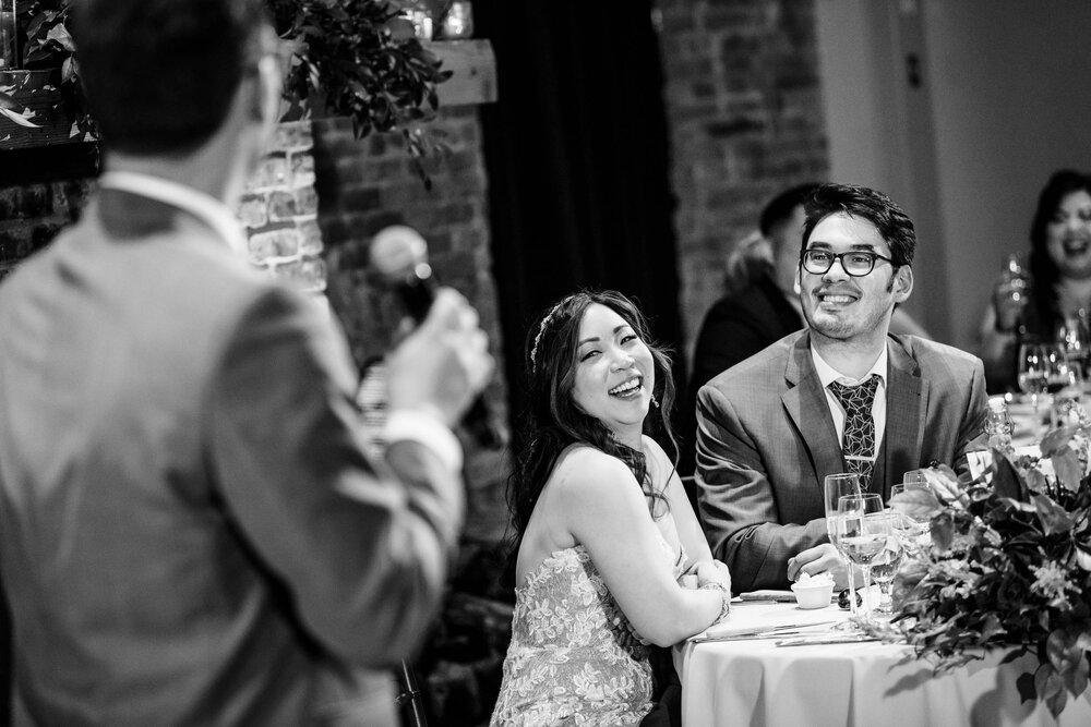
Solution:
M26 0L16 4L22 66L57 70L55 111L74 119L72 135L91 133L79 64L67 23L79 0ZM442 152L425 128L440 102L435 87L451 76L412 34L412 25L386 0L266 0L277 32L293 43L285 78L289 114L314 111L352 120L358 138L400 132L417 173L429 185L422 161ZM0 111L21 105L0 88ZM33 119L29 120L33 122Z

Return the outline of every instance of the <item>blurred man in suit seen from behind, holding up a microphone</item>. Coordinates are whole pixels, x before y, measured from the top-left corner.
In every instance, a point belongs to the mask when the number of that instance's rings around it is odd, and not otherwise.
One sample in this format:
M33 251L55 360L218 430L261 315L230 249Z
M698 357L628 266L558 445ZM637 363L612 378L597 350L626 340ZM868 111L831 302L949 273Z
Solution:
M492 369L441 291L392 354L385 461L315 301L231 209L275 120L262 0L82 0L105 173L0 287L0 574L16 701L57 725L395 724Z

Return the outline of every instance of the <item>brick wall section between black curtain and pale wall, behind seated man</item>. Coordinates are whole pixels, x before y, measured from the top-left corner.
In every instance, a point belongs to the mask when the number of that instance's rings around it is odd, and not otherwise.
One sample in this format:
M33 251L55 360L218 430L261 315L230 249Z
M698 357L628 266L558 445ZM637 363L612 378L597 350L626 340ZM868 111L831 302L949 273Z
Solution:
M814 0L658 0L686 352L731 245L829 173ZM690 356L687 356L690 360Z

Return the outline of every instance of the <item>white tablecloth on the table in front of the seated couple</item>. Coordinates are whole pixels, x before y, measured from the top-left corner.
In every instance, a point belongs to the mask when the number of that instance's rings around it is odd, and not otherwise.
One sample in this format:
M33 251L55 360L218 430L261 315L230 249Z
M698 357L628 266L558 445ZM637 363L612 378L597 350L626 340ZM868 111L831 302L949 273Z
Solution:
M839 619L846 611L803 611L794 604L742 604L739 623L799 623ZM780 647L774 640L686 643L675 649L685 727L769 725L1091 725L1084 692L1055 720L1038 701L1020 703L1016 679L1033 668L1022 656L999 665L990 654L943 676L908 646L878 642Z

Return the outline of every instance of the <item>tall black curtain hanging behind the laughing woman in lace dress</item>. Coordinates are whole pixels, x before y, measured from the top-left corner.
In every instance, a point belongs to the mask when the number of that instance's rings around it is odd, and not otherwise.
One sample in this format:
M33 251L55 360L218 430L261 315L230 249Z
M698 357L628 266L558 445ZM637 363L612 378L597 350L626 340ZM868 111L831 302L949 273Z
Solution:
M649 2L475 0L473 14L496 54L481 119L514 423L527 328L577 289L635 298L681 351L662 70ZM679 391L684 372L676 354Z

